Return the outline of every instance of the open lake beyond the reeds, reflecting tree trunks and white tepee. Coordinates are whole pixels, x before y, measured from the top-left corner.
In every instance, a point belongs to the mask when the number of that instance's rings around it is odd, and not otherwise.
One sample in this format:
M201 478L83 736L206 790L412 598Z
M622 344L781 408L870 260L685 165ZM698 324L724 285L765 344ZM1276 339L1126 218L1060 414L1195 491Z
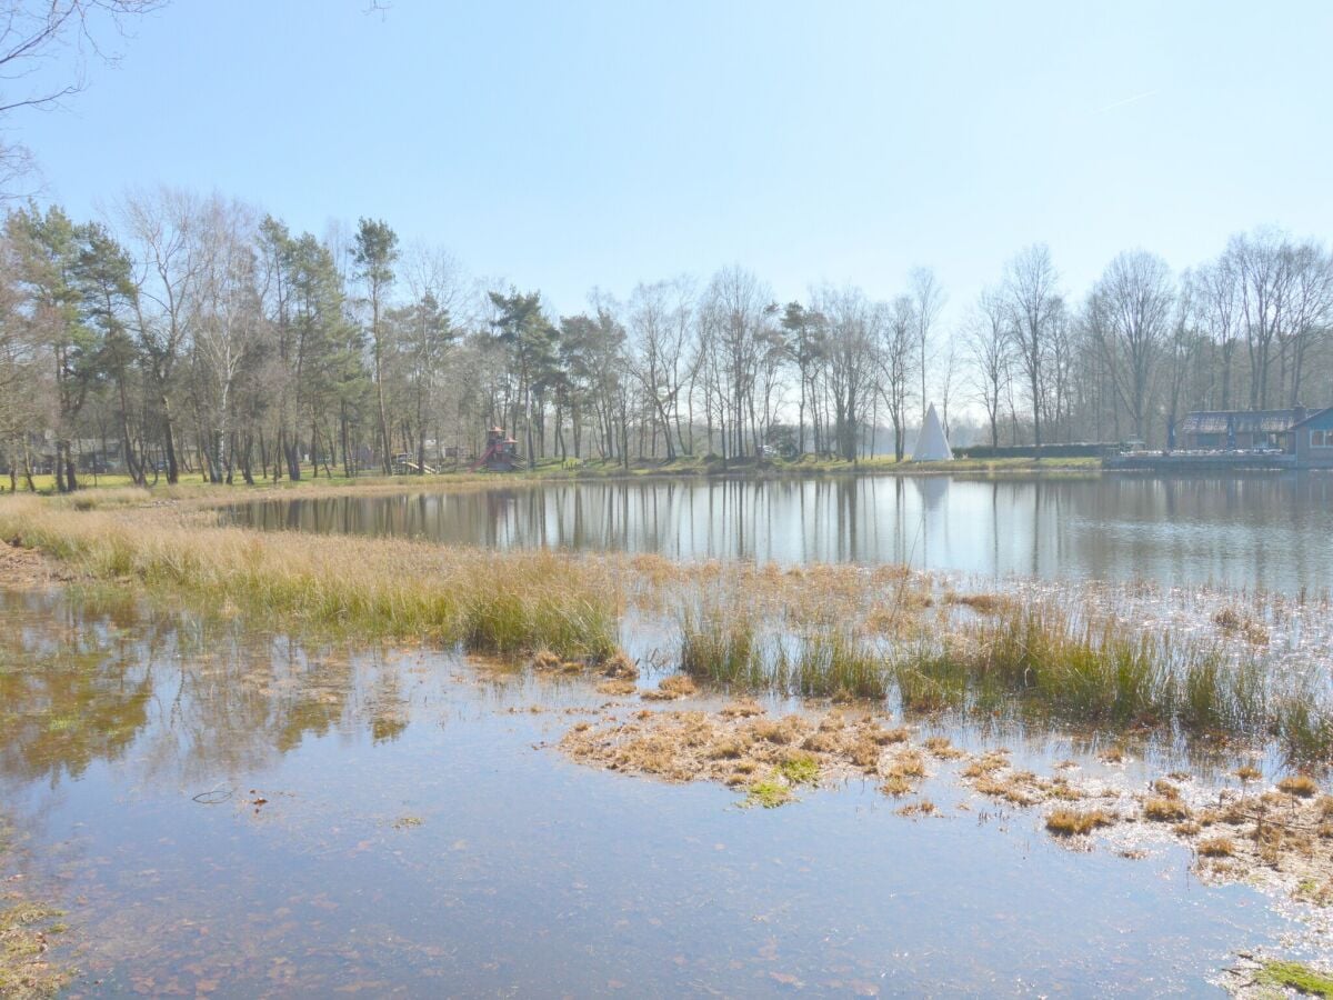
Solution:
M495 548L672 559L909 563L1042 579L1320 595L1333 587L1333 475L946 476L553 483L271 500L237 523Z

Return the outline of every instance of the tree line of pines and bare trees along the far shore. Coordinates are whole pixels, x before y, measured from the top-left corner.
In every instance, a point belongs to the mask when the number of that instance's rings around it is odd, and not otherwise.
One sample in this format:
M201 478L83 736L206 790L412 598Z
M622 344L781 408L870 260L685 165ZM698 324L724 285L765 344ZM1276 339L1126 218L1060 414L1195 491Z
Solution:
M1033 245L948 328L925 268L888 301L781 303L736 265L556 316L383 220L316 237L168 187L100 221L12 208L0 264L12 487L424 473L491 425L529 463L857 460L878 428L901 459L932 399L990 444L1161 443L1189 409L1333 403L1333 257L1273 228L1181 273L1120 253L1078 297Z

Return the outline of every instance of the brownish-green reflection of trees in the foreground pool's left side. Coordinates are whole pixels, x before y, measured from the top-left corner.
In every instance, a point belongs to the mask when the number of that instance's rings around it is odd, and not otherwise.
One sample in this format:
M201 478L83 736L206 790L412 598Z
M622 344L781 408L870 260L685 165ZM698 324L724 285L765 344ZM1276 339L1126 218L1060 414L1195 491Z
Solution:
M0 595L0 615L4 779L55 785L107 761L217 780L335 729L384 741L408 727L399 671L373 653L56 595Z

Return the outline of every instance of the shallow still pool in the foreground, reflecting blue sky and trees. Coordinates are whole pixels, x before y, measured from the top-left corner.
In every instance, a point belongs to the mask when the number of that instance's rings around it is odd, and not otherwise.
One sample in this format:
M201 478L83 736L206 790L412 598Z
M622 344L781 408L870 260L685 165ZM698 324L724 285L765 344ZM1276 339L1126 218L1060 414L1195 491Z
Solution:
M1194 995L1292 929L946 776L906 819L860 781L762 811L583 768L551 744L584 680L0 600L0 808L76 992Z

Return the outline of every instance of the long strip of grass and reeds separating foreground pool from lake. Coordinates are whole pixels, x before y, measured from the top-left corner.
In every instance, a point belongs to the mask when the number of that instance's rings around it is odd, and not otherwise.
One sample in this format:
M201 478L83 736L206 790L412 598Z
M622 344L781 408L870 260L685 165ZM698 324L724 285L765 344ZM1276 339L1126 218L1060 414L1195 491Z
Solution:
M595 665L628 625L655 621L685 673L728 689L925 712L1017 707L1056 724L1276 740L1294 760L1333 759L1333 709L1308 679L1265 676L1250 641L1266 643L1258 623L1152 633L1096 601L960 595L904 567L778 569L265 533L220 525L207 503L87 500L7 497L0 537L89 584L295 632L511 657L549 651Z

